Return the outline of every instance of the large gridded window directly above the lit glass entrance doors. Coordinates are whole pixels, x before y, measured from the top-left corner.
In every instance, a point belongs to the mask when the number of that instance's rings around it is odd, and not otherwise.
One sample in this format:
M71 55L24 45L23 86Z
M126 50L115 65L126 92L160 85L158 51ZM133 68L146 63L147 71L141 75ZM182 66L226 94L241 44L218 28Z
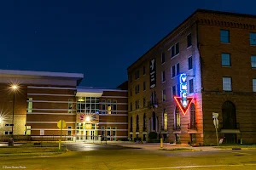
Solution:
M99 98L78 97L77 113L99 113Z

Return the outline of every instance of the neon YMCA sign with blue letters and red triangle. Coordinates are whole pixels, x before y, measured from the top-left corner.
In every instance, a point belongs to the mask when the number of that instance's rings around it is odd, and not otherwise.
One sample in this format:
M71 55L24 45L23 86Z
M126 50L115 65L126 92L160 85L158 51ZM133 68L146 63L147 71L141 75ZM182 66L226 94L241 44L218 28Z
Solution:
M179 77L180 82L180 96L174 96L174 99L179 107L179 109L183 112L183 115L186 115L186 112L191 105L193 97L187 97L188 95L188 82L187 75L181 74Z

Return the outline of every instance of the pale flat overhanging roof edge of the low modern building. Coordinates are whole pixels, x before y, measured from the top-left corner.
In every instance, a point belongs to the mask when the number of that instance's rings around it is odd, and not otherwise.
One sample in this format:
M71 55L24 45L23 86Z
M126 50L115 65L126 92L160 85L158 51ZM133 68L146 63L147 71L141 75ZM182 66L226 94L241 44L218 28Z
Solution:
M67 77L83 79L82 73L67 72L49 72L49 71L17 71L17 70L0 70L0 74L20 75L20 76L38 76L38 77Z

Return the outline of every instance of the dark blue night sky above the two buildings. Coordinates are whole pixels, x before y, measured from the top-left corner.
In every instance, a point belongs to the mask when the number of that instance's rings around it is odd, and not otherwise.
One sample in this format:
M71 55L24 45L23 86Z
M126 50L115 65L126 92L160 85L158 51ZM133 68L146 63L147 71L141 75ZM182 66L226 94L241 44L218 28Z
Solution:
M126 69L197 8L256 14L254 1L1 1L0 69L84 73L115 88Z

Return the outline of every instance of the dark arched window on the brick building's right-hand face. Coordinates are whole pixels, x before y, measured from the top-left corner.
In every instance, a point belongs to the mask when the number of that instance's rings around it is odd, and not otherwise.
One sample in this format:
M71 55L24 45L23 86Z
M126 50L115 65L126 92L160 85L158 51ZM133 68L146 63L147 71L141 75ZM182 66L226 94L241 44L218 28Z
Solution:
M223 128L236 129L236 106L230 101L222 105L222 120Z

